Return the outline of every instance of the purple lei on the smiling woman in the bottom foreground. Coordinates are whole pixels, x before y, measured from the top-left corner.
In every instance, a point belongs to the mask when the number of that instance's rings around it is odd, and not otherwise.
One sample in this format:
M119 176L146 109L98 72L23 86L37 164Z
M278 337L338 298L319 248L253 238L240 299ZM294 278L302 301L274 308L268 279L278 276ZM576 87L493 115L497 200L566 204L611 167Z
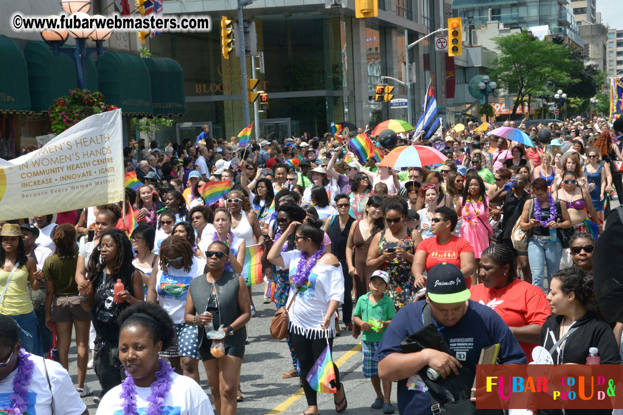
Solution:
M173 381L171 373L173 373L173 368L164 359L160 359L159 363L160 370L156 372L156 381L151 384L151 395L147 398L147 401L150 403L147 415L161 414L160 407L164 404L166 394L171 390L171 381ZM128 371L125 371L125 376L126 378L121 383L121 393L119 394L119 398L123 399L121 409L123 409L123 415L137 415L134 378L130 376Z

